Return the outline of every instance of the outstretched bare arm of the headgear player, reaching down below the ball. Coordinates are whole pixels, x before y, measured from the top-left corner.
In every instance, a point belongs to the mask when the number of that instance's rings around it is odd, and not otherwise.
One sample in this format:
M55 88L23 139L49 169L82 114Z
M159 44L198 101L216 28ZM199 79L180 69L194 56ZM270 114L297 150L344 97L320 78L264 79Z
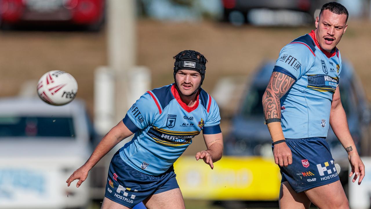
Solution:
M83 181L88 177L89 170L98 163L112 148L114 148L123 139L131 136L133 133L125 126L124 122L120 121L114 128L112 128L99 142L89 157L88 161L83 164L78 170L67 179L67 186L76 179L79 179L76 187L79 187Z

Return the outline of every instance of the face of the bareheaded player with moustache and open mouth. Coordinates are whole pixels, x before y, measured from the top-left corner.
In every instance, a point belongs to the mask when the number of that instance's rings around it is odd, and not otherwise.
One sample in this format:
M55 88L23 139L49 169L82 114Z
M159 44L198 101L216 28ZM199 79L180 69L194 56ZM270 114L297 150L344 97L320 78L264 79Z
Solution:
M330 10L322 11L316 18L316 38L318 44L328 52L339 43L342 35L347 30L347 15L336 15Z

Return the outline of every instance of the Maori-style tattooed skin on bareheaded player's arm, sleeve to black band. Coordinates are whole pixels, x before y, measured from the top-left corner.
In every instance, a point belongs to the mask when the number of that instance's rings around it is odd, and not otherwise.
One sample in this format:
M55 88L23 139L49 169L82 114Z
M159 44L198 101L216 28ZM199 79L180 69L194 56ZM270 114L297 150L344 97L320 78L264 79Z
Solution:
M295 80L283 73L273 72L263 95L263 111L265 119L281 118L280 99L291 88Z

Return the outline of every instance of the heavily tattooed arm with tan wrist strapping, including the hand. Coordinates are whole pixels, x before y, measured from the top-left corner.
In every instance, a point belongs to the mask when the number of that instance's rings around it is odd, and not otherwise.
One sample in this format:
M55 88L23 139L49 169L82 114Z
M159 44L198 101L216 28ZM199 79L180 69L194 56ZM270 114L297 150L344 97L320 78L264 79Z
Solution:
M280 123L280 99L287 93L294 82L295 80L286 74L273 72L265 93L263 94L262 103L264 116L273 142L285 139ZM286 143L275 144L273 155L275 157L275 163L280 166L287 166L292 163L291 150Z

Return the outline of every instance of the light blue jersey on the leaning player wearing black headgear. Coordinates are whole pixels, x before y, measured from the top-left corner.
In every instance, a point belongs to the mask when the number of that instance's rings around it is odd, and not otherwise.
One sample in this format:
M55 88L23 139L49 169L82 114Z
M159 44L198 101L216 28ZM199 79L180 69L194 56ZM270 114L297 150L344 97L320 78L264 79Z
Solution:
M197 102L188 107L171 84L147 91L123 119L135 133L120 149L120 157L132 168L153 176L168 170L200 134L220 133L219 107L200 89Z

